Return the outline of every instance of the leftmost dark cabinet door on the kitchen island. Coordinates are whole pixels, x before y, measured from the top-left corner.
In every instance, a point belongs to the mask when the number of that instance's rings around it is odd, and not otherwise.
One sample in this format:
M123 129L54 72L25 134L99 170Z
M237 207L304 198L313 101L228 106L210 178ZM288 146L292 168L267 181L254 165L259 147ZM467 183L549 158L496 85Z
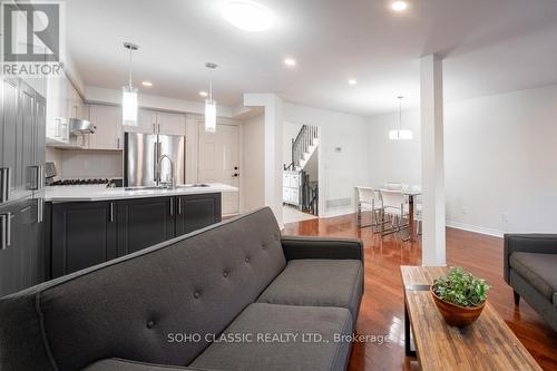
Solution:
M115 207L110 202L51 206L53 279L116 257Z

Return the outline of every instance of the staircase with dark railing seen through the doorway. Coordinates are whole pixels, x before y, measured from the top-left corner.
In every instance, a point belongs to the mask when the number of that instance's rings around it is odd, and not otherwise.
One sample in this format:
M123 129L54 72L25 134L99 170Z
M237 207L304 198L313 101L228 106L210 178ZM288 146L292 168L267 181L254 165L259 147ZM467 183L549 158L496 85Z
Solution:
M319 184L310 182L310 175L305 172L307 162L319 147L319 128L316 126L304 125L300 129L295 139L292 139L292 162L286 166L285 172L296 172L300 175L300 185L297 188L297 207L315 216L319 215Z

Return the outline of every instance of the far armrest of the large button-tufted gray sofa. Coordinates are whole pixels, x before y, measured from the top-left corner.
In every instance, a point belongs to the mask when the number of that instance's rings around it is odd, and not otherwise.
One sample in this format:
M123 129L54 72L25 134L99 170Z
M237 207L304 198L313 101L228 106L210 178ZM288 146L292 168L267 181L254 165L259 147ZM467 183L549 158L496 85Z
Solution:
M284 256L295 258L358 260L363 264L363 244L355 238L320 238L306 236L283 236Z

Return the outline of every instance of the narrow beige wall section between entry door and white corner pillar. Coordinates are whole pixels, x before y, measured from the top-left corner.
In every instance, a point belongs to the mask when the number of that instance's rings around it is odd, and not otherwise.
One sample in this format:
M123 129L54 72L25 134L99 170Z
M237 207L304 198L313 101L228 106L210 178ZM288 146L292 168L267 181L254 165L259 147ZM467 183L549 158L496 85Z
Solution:
M265 205L264 120L264 115L261 115L242 124L242 212L250 212Z

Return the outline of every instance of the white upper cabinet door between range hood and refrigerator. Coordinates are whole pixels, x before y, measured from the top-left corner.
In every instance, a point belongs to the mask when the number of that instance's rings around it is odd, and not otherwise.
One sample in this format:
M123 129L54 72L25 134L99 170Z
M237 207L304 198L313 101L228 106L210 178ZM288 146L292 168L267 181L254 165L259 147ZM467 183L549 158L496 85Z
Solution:
M89 149L123 149L121 108L105 105L91 105L90 121L97 127L89 134Z

